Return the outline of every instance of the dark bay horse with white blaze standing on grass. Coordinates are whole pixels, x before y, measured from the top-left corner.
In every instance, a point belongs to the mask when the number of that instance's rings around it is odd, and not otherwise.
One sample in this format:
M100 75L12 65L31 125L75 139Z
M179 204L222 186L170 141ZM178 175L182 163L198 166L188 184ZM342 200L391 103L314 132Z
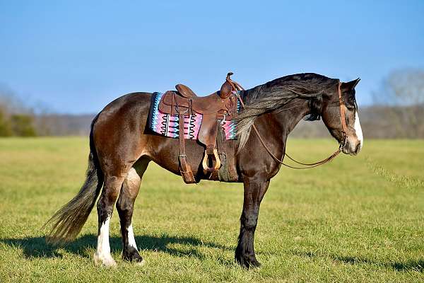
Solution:
M242 93L246 107L238 118L238 139L225 141L225 152L232 156L228 158L228 166L237 172L238 182L245 188L240 236L235 249L235 260L240 265L260 265L254 253L259 205L271 178L281 167L264 149L259 135L251 131L252 125L280 160L285 155L288 134L302 118L322 118L330 134L339 143L344 141L343 153L358 154L363 146L355 101L358 81L339 83L338 79L319 74L295 74ZM342 104L338 93L341 93ZM122 256L124 260L143 263L131 218L148 163L153 161L179 175L178 139L159 136L147 127L151 96L151 93L129 93L112 101L95 117L90 132L86 181L78 195L49 220L53 224L49 233L51 241L71 241L81 231L100 195L97 202L98 246L94 255L95 263L100 265L116 265L109 244L109 224L115 203L121 223ZM346 131L342 129L341 119L346 121ZM186 147L187 161L196 178L208 179L200 166L204 147L189 139Z

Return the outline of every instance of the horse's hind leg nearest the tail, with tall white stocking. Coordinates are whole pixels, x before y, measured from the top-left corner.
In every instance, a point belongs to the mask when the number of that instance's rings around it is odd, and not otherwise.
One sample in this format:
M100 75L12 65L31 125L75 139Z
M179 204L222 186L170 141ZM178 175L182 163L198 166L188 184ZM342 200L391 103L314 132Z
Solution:
M98 246L94 254L96 265L105 265L107 267L117 265L110 255L109 244L109 224L112 217L113 206L117 201L119 190L124 182L124 176L105 175L102 195L98 200Z

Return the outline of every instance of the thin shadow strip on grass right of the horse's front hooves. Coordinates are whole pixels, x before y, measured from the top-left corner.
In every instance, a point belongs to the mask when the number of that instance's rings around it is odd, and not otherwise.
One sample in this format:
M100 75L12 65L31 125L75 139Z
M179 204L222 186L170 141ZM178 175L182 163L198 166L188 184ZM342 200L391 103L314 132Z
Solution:
M308 258L325 258L329 257L331 260L336 262L344 262L350 265L366 263L370 265L379 265L383 267L389 267L396 271L409 271L416 270L418 272L424 272L424 259L420 260L407 260L406 262L376 262L375 260L369 260L367 258L359 258L359 257L351 257L351 256L343 256L343 255L319 255L313 252L300 252L300 251L292 251L294 255L299 255L302 257Z

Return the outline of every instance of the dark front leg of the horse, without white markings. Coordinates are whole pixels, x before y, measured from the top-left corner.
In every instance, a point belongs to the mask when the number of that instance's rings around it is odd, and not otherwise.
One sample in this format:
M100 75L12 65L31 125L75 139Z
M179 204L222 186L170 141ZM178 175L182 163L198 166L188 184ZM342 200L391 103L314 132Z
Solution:
M257 226L259 205L269 186L263 178L244 178L245 199L240 217L240 235L235 260L244 267L258 267L261 264L254 254L254 231Z

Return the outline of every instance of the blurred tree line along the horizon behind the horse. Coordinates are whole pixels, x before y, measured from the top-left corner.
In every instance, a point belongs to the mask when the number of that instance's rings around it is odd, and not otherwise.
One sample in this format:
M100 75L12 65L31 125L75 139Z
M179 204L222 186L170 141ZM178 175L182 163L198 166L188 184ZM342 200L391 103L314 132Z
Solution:
M424 70L392 71L376 87L372 100L372 105L359 110L366 138L424 139ZM94 117L42 114L0 89L0 137L85 136ZM302 121L291 136L329 137L329 133L322 122Z

